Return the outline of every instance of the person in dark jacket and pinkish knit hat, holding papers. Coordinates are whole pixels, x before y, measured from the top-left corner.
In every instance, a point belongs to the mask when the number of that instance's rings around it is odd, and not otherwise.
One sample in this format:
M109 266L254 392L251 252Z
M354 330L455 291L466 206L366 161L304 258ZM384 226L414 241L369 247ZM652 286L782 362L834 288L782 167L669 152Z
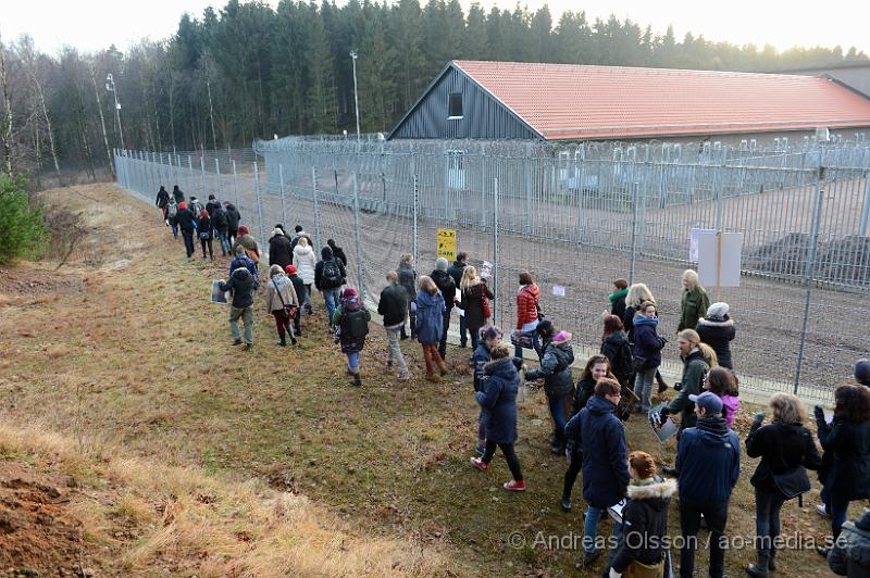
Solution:
M536 325L535 330L544 341L544 355L540 367L525 372L525 380L544 379L544 392L552 418L552 441L550 451L557 455L564 453L564 425L568 404L574 392L574 379L571 364L574 363L574 350L571 348L571 334L556 331L552 323L545 319Z

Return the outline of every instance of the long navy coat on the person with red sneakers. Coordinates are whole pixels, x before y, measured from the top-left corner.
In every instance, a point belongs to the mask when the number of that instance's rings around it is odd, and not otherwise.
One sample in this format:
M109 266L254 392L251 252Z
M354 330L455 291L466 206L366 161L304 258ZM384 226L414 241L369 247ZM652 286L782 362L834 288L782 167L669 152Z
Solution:
M486 441L513 443L517 441L517 391L520 374L513 360L504 357L486 364L488 376L483 391L474 397L481 407L487 410L485 419Z

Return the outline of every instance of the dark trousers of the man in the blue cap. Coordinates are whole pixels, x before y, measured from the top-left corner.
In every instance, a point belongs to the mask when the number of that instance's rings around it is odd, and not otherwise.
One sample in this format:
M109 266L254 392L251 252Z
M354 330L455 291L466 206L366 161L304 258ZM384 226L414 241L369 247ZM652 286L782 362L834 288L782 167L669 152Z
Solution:
M700 516L710 528L710 578L722 578L725 574L725 550L722 538L728 522L728 502L719 504L695 505L680 502L680 529L683 548L680 550L680 576L692 578L695 574L695 550L698 548L698 530Z

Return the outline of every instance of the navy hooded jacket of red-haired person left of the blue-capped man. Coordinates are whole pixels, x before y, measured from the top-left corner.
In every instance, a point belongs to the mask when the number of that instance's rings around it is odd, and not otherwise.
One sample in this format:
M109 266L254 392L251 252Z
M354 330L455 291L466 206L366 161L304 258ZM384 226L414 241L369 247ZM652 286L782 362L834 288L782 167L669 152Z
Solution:
M583 453L583 500L593 507L610 507L629 486L625 429L613 414L617 406L593 395L564 426L568 447Z

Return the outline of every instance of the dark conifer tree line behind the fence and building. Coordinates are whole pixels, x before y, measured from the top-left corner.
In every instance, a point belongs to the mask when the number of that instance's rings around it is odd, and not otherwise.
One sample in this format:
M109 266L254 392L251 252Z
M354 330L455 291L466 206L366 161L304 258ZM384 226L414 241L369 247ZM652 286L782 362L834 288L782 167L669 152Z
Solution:
M776 71L868 62L849 48L735 46L673 28L654 34L631 20L589 20L458 0L301 2L229 0L184 14L163 40L121 52L46 54L22 37L0 38L0 169L94 177L111 172L110 151L249 146L256 138L355 130L357 50L363 131L387 131L452 59ZM122 103L119 130L112 74Z

